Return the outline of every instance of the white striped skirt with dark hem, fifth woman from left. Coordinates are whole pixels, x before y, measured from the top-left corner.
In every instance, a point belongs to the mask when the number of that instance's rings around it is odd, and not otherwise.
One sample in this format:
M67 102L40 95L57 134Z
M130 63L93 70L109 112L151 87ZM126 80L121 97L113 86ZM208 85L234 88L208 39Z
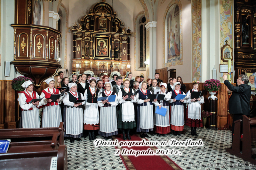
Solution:
M103 137L117 135L116 107L100 108L100 130L99 134Z

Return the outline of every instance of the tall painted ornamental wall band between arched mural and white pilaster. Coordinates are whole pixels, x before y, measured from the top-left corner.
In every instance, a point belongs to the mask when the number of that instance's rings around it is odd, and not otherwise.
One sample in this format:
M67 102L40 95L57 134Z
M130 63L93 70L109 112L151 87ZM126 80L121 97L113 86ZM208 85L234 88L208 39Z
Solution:
M192 0L192 80L201 81L202 63L202 20L201 20L201 0Z

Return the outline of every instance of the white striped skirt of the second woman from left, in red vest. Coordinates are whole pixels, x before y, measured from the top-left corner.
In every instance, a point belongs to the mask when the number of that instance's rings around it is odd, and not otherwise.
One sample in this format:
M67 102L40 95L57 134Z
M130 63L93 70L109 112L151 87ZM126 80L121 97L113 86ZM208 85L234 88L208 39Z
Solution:
M59 127L61 118L60 105L50 105L43 108L42 128Z

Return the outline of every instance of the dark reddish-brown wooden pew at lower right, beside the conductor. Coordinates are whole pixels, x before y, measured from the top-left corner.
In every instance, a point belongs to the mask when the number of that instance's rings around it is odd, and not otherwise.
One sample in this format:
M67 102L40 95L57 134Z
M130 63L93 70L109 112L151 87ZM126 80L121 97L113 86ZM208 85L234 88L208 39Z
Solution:
M256 141L256 118L248 118L243 115L243 133L241 133L241 122L242 120L237 120L234 122L234 136L232 149L227 148L226 151L256 164L256 148L252 148L252 142ZM241 137L241 134L243 136ZM240 153L240 146L242 142L242 153Z

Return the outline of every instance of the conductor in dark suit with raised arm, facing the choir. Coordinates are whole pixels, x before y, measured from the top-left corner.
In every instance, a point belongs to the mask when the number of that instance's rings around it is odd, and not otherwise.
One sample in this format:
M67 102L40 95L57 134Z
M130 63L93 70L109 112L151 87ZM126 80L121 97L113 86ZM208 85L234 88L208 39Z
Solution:
M243 123L243 115L248 116L250 114L250 98L251 98L251 86L248 85L249 78L241 74L239 75L236 87L231 85L227 80L227 75L223 74L222 76L224 84L228 87L229 91L232 92L231 97L228 101L228 109L230 114L233 115L233 124L232 124L232 139L234 134L234 122L241 119ZM241 127L243 125L241 124Z

